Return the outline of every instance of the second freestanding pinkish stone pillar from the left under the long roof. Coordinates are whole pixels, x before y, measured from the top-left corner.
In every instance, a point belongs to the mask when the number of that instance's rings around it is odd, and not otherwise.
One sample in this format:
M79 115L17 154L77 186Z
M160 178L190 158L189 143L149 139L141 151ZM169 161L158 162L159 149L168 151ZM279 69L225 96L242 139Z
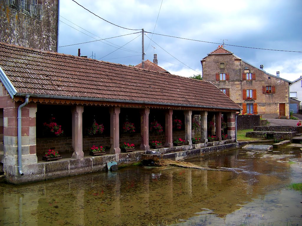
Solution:
M120 108L110 108L110 154L120 154Z

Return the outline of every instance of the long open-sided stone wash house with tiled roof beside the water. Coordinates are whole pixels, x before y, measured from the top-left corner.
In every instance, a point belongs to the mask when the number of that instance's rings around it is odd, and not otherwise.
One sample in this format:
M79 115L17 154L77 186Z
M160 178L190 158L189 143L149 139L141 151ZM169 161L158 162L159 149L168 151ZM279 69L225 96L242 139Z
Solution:
M11 183L103 170L106 160L138 161L154 140L172 148L182 138L180 148L193 149L194 115L201 115L205 145L208 134L222 140L223 123L227 138L235 140L240 107L209 82L5 43L0 43L0 80L0 160ZM176 120L182 122L177 130ZM123 131L127 121L135 133ZM162 125L161 134L149 133L154 121ZM208 129L210 121L214 126ZM50 122L63 134L51 132ZM104 133L89 135L94 122L103 124ZM132 159L121 153L124 142L136 146ZM106 155L87 156L92 145L104 146ZM42 162L48 149L68 159Z

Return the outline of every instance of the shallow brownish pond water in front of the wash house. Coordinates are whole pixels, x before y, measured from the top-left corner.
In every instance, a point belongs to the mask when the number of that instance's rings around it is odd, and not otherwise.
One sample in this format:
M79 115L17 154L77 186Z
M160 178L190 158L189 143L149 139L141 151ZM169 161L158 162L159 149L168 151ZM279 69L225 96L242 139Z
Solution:
M0 184L0 225L302 225L299 149L190 159L227 171L128 167Z

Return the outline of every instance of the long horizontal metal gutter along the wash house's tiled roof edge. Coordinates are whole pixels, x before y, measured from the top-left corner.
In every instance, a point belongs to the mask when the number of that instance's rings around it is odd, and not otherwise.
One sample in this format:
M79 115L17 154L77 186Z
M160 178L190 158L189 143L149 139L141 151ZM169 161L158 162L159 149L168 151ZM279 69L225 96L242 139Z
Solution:
M224 107L213 107L204 105L186 105L186 104L174 104L174 103L163 103L163 102L150 102L150 101L136 101L136 100L120 100L120 99L103 99L103 98L91 98L91 97L74 97L74 96L54 96L54 95L43 95L43 94L29 94L29 93L17 93L15 96L26 96L43 98L43 99L64 99L64 100L82 100L82 101L104 101L113 103L129 103L129 104L151 104L151 105L168 105L176 107L195 107L195 108L214 108L214 109L226 109L226 110L242 110L242 108L224 108Z

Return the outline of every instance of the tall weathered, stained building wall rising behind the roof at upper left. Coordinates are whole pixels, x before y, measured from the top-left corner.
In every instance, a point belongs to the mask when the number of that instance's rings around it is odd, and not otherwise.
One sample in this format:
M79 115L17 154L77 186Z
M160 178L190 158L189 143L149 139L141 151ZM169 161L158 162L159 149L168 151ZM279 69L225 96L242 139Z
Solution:
M57 52L59 0L0 1L0 42Z

